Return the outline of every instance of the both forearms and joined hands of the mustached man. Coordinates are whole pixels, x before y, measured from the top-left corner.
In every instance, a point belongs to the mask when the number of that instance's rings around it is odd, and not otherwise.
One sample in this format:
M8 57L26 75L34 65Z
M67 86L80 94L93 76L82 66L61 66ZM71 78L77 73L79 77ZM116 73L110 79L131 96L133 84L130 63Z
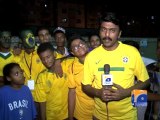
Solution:
M117 84L113 85L117 89L113 88L95 89L91 85L83 85L83 84L82 84L82 89L87 95L100 98L102 101L107 102L107 101L118 101L126 97L130 97L132 90L145 89L148 87L148 85L149 85L149 80L145 82L139 81L137 84L127 89L124 89Z

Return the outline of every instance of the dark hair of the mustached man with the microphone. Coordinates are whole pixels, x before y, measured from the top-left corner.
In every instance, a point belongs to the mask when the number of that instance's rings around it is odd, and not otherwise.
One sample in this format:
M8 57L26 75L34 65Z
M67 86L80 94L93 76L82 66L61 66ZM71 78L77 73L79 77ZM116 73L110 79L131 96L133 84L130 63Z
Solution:
M118 25L119 28L121 29L120 18L116 13L113 12L103 13L100 18L100 24L102 22L112 22L115 25Z

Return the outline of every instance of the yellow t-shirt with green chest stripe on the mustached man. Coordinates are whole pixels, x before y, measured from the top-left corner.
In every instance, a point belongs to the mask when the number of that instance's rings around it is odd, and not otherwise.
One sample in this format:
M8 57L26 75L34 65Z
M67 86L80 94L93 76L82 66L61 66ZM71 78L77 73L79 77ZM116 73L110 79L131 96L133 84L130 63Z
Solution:
M113 75L113 82L129 88L134 85L134 77L138 80L147 80L148 73L142 58L136 48L119 42L114 51L107 51L102 46L91 51L85 59L84 64L84 85L91 85L94 79L94 86L102 88L101 75L104 74L104 64L110 65L110 74ZM136 120L136 108L131 104L131 97L120 101L108 103L110 120ZM94 116L100 120L107 119L106 104L99 98L95 98Z

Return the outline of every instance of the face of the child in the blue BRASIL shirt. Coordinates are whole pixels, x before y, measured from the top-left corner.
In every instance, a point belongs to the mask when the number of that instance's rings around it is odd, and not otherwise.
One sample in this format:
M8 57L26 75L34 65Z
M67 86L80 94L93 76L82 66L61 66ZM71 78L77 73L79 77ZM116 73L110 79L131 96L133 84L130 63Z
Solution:
M10 74L10 81L14 85L23 85L24 84L24 75L23 75L23 70L19 66L15 66L11 70Z

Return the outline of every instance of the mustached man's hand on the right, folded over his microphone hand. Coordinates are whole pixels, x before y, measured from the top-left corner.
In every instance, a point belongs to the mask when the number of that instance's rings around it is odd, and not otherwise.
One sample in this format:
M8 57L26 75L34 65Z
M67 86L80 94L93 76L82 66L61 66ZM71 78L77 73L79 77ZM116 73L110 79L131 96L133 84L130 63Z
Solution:
M110 91L106 94L108 101L119 101L127 97L128 91L126 89L115 83L113 86L117 89L108 89Z

